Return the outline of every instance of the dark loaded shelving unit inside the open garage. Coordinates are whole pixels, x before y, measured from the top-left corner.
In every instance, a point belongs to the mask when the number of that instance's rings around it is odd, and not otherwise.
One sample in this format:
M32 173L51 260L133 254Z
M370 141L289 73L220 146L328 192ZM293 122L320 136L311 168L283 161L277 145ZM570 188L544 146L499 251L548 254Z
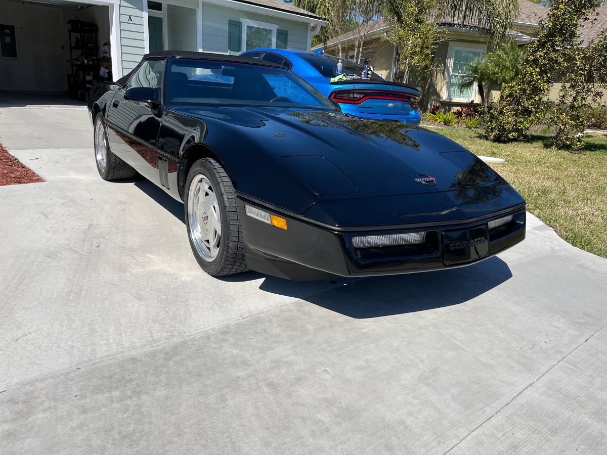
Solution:
M67 31L72 73L67 75L70 98L88 101L93 84L100 79L97 25L73 21Z

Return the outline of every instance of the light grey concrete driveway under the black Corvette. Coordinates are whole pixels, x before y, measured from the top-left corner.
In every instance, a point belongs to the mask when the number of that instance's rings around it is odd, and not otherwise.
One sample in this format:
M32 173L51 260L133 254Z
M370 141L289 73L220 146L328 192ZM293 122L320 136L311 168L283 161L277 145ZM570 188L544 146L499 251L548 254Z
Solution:
M2 454L604 453L607 260L530 217L468 268L218 280L86 110L13 105L46 182L0 187Z

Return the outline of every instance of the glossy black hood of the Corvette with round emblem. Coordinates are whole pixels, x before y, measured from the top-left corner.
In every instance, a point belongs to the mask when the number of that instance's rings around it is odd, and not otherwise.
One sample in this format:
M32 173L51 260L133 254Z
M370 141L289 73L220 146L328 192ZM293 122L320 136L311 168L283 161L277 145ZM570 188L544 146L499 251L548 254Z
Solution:
M231 176L237 189L298 213L322 201L505 183L459 144L397 122L282 107L172 109L205 121L205 143L213 149L225 147L226 141L241 147L239 162L228 166L237 174ZM281 189L260 184L264 175Z

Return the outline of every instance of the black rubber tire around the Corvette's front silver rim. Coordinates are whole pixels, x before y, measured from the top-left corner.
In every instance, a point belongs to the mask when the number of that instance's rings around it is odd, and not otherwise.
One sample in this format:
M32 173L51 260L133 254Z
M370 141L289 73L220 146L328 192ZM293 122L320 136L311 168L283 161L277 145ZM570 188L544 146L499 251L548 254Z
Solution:
M200 175L206 177L211 183L212 190L217 197L217 205L221 216L221 236L219 251L212 260L205 258L198 252L192 240L191 218L189 214L190 190L192 181L199 179ZM193 196L192 196L193 197ZM245 261L245 244L242 240L242 224L236 203L236 192L223 167L211 158L202 158L192 164L188 172L185 189L185 220L188 229L188 240L198 261L198 265L206 273L214 277L237 274L248 270ZM195 215L192 215L195 217Z

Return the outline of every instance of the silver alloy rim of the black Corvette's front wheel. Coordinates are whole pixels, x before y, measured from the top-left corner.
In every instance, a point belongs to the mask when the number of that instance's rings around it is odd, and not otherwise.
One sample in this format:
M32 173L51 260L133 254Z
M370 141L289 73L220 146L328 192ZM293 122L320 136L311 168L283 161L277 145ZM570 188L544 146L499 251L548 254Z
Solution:
M219 253L222 215L211 181L202 174L196 175L190 183L188 224L196 251L205 261L212 262Z

